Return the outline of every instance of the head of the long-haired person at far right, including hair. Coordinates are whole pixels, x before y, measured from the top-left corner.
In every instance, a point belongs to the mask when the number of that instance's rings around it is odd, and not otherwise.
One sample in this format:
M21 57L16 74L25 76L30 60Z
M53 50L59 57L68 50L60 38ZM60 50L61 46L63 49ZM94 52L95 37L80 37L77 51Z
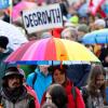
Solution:
M90 80L89 80L89 89L93 96L98 94L98 91L103 93L105 92L105 77L106 71L102 65L94 65L91 69Z

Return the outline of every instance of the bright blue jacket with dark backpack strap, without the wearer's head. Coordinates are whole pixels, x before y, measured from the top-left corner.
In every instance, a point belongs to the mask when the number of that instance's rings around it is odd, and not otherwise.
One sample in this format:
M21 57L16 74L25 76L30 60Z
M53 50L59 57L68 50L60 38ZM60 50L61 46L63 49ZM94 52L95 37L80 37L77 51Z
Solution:
M52 76L50 73L48 76L44 76L42 72L40 72L39 69L36 69L35 72L37 73L37 79L35 81L33 90L37 93L39 103L41 103L44 92L52 83ZM35 72L28 75L27 77L27 84L31 87Z

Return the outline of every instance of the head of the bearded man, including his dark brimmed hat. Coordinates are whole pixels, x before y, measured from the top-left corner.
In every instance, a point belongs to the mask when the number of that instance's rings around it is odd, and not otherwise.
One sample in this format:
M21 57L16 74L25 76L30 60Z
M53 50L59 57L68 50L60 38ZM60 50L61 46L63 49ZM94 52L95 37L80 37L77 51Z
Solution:
M19 87L23 84L24 76L19 72L21 70L17 67L9 67L5 70L5 75L2 78L3 86L14 90Z

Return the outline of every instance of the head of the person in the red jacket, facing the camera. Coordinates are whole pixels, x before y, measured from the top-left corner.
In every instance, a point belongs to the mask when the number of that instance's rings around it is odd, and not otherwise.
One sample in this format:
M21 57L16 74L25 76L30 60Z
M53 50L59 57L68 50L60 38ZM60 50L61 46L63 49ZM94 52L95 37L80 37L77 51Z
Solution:
M66 67L60 65L54 66L52 77L54 83L64 84L66 82Z

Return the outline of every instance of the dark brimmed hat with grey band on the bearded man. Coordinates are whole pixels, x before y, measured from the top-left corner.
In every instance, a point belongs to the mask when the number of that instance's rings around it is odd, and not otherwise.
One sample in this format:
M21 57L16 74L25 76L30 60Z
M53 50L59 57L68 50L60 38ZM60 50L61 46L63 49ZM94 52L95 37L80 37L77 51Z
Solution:
M18 76L19 78L24 78L23 73L21 73L21 69L18 69L17 67L9 67L5 70L5 75L2 79L4 80L11 76Z

